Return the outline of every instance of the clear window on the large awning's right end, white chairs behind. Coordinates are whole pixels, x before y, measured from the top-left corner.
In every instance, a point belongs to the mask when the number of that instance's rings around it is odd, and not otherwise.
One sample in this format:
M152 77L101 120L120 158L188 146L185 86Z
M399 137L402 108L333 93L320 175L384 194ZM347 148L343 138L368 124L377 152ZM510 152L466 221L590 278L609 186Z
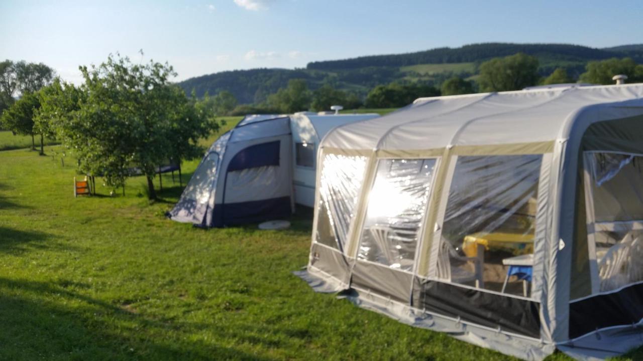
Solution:
M584 165L593 291L643 281L643 156L587 152Z

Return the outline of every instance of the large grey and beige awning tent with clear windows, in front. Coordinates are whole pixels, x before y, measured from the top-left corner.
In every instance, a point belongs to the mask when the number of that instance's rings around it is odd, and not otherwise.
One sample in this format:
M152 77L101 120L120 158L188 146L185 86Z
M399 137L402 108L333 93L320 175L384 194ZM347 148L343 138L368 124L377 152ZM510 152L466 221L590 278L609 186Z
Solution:
M320 292L541 360L643 344L643 84L422 98L318 152Z

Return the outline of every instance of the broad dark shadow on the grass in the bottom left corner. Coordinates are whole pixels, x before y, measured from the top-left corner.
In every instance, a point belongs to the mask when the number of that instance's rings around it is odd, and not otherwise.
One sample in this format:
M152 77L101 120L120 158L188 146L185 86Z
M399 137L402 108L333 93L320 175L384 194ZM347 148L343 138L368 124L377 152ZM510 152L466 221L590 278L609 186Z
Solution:
M84 288L89 286L73 281L0 277L0 358L267 360L194 340L190 334L176 335L190 324L150 319L121 305L77 293Z

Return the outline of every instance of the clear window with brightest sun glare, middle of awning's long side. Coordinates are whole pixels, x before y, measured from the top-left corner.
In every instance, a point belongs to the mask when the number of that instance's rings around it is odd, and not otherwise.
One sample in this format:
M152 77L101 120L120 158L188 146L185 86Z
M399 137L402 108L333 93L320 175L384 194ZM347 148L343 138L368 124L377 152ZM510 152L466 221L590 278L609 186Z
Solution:
M382 159L359 240L358 260L412 271L435 159Z

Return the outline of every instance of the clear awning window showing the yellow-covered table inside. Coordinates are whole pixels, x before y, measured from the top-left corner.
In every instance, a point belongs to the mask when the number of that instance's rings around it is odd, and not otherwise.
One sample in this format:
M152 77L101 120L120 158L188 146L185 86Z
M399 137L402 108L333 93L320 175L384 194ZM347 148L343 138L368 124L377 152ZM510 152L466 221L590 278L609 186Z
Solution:
M437 256L454 283L529 296L542 155L457 158Z

